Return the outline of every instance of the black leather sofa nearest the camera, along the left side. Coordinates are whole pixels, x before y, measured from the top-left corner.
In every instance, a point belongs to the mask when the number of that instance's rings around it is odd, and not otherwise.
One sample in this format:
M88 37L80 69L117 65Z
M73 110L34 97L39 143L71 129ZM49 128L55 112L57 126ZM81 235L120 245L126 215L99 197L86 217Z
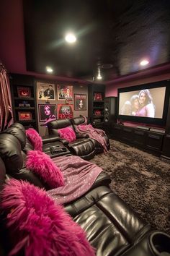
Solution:
M27 150L32 150L32 145L22 125L13 124L0 134L1 187L7 174L8 178L28 180L48 189L25 168ZM170 252L170 237L151 231L149 224L109 189L109 177L103 172L88 192L66 204L65 209L86 231L87 239L97 249L97 256L166 256ZM10 239L2 217L0 237L0 252L4 256L10 248Z

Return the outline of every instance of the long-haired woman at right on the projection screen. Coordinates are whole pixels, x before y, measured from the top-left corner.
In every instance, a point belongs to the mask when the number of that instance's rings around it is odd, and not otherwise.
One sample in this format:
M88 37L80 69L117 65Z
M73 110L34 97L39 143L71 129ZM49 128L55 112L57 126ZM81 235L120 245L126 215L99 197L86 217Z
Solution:
M155 107L153 105L153 99L148 89L140 90L139 93L139 109L135 116L154 117Z

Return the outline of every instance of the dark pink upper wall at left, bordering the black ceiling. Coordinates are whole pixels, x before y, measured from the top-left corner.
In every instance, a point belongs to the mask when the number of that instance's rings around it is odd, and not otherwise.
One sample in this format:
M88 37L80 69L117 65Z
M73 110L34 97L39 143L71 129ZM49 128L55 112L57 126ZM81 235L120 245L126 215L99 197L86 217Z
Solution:
M48 80L86 83L76 78L27 72L22 0L1 1L0 17L0 61L8 72L30 74Z

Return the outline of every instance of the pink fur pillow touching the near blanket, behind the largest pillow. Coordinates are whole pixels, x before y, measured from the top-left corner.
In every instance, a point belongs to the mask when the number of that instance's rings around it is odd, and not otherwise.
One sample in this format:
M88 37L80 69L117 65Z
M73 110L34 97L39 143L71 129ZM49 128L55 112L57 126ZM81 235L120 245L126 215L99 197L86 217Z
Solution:
M49 155L39 150L30 150L27 153L26 167L46 182L51 188L64 185L63 174L55 166Z

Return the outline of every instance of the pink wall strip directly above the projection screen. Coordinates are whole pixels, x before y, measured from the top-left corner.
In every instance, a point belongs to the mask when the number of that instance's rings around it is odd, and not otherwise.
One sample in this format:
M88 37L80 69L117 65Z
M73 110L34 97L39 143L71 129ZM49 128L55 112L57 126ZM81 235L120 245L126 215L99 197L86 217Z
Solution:
M107 82L106 97L117 97L118 88L125 88L128 86L141 85L162 80L170 80L170 64L166 64L161 67L155 67L150 70L139 72L138 74L131 74L129 76L120 77L113 81Z

